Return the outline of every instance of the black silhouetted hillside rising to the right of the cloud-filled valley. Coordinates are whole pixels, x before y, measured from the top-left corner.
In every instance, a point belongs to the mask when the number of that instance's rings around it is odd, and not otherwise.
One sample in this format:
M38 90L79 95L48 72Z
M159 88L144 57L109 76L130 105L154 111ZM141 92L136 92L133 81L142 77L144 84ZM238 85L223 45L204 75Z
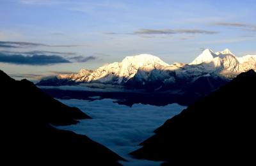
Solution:
M170 165L255 163L255 94L256 73L241 73L168 119L131 155Z

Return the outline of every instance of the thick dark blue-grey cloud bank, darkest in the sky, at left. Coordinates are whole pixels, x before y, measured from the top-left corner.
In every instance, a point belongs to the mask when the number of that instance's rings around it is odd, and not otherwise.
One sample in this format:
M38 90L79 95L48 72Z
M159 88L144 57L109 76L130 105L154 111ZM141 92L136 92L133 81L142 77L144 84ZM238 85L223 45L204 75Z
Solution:
M3 54L0 53L1 63L12 64L28 64L28 65L49 65L58 63L71 63L68 59L61 56L45 56L45 55L33 55L24 56L20 54Z

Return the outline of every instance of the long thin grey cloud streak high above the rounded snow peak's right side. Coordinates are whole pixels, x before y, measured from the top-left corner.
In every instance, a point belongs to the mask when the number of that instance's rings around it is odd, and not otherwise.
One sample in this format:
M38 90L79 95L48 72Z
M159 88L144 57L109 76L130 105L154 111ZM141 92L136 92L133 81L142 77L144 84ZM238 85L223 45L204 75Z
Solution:
M218 31L205 31L202 29L140 29L133 34L216 34Z

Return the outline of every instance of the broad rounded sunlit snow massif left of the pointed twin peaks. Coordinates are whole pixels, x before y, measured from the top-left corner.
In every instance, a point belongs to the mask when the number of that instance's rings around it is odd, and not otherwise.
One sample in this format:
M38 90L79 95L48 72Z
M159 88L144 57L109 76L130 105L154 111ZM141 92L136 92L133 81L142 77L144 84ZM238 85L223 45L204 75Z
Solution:
M95 71L82 69L77 74L59 75L59 79L71 79L76 82L102 82L111 84L124 84L138 73L138 71L150 72L154 69L164 70L166 66L159 57L150 54L127 56L120 63L106 64ZM147 77L145 75L141 77Z

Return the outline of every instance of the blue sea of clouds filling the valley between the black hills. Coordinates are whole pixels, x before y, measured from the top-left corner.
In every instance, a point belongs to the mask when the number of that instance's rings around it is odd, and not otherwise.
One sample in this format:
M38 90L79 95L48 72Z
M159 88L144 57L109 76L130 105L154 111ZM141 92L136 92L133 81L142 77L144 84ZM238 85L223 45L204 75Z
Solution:
M138 149L140 142L154 135L154 130L170 117L186 107L170 104L164 107L134 104L132 107L118 105L113 100L60 100L71 107L78 107L93 119L58 128L87 135L103 144L129 162L124 165L160 165L161 162L135 160L128 153Z

